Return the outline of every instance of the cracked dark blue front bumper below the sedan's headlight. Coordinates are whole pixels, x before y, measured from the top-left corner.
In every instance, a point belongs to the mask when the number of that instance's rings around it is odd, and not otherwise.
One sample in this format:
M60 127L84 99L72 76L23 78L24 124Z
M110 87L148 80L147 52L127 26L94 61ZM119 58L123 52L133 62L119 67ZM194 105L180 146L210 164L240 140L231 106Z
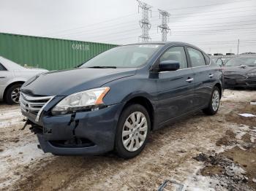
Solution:
M44 152L54 155L99 155L113 150L116 125L123 104L91 112L42 116L30 120Z

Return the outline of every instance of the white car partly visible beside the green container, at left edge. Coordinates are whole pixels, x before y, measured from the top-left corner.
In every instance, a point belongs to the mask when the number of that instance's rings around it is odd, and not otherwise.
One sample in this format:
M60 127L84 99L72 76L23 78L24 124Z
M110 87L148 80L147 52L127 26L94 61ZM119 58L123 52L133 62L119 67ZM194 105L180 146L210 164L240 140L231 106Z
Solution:
M19 104L20 87L34 75L47 72L45 69L27 69L0 56L0 101Z

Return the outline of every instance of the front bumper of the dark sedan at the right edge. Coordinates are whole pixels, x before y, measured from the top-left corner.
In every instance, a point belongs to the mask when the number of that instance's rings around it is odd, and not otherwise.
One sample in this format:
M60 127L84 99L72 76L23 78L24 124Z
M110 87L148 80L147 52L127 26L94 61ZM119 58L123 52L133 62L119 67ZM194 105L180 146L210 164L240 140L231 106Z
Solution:
M256 87L256 77L232 79L225 77L225 87Z

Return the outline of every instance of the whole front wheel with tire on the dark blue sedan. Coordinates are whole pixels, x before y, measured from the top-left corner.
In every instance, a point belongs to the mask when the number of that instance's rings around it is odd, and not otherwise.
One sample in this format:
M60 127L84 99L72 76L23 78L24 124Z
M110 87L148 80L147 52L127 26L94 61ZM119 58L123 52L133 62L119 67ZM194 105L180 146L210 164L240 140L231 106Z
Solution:
M129 159L144 149L151 130L148 111L140 104L127 106L121 113L116 129L115 150Z

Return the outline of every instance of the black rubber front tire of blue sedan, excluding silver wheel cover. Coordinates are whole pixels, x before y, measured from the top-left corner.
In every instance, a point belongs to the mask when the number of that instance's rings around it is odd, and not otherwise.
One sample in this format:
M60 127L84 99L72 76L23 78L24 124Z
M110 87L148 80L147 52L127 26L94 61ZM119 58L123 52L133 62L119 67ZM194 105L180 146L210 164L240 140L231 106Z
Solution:
M130 114L133 112L142 112L147 120L148 123L148 130L147 130L147 135L146 139L143 143L143 145L140 147L140 149L136 150L135 152L129 152L127 149L124 148L123 142L122 142L122 130L124 127L124 122L127 120L127 117L129 117ZM140 104L132 104L127 106L124 111L121 113L119 120L118 120L118 125L116 128L116 139L115 139L115 149L116 152L120 157L123 157L125 159L129 159L132 157L135 157L140 154L140 152L144 149L146 142L148 141L148 135L151 130L151 122L149 118L149 114L146 110L145 107L141 106Z

